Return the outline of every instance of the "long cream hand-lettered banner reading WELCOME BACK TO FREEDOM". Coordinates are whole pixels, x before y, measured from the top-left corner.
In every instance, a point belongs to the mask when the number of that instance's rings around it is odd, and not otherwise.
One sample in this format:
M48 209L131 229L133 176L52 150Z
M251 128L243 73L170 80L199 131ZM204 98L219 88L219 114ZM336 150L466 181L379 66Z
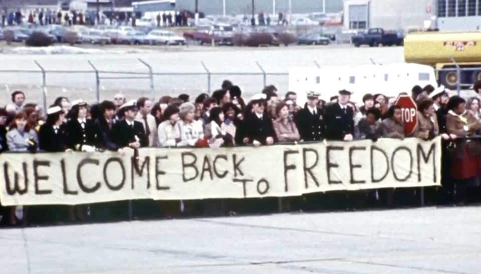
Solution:
M118 152L3 153L3 205L296 196L440 185L440 138ZM137 163L137 164L135 164Z

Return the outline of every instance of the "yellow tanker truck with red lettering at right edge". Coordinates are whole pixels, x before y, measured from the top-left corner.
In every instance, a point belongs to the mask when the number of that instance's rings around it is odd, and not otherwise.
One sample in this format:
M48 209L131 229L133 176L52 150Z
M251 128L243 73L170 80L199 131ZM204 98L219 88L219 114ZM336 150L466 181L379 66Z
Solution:
M481 80L481 31L416 32L404 37L404 60L433 66L438 82L449 89L457 89L453 59L461 67L459 88Z

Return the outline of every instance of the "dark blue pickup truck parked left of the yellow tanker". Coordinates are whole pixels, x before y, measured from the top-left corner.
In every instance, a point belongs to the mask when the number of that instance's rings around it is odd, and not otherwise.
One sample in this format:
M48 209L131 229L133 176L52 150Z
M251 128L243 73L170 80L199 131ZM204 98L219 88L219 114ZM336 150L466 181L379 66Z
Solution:
M354 46L361 45L379 46L382 45L403 45L404 35L401 32L385 31L382 28L369 28L352 36L351 42Z

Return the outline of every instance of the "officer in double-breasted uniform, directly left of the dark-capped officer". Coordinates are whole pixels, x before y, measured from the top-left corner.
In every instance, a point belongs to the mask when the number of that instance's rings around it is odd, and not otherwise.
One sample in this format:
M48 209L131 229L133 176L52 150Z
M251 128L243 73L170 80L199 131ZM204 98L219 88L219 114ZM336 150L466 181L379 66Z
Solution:
M307 103L294 117L301 140L320 141L324 138L323 110L319 107L320 94L314 91L307 93Z

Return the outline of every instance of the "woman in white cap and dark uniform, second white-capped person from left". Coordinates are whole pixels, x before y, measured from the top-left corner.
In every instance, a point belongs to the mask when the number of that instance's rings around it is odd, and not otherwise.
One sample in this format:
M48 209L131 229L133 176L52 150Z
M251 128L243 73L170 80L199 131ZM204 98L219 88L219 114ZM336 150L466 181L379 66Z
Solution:
M95 151L95 127L91 119L87 119L87 103L80 100L72 102L69 120L65 125L67 146L73 150Z

